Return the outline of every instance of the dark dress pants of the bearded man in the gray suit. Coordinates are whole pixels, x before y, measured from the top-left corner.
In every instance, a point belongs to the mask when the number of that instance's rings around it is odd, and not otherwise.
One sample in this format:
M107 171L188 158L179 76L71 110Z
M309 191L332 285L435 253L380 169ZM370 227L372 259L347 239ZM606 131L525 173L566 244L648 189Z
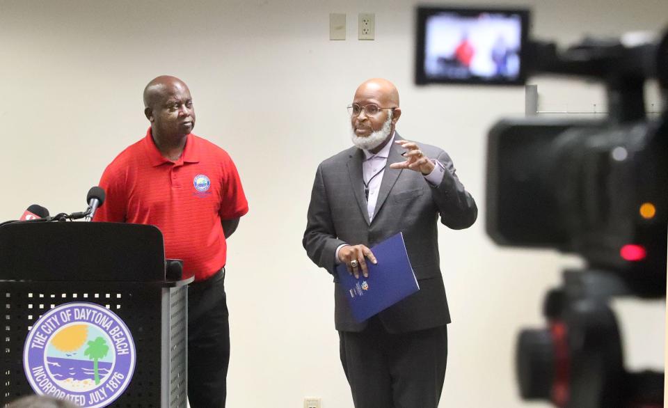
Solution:
M390 334L378 317L340 331L343 370L356 408L436 408L447 365L447 326Z

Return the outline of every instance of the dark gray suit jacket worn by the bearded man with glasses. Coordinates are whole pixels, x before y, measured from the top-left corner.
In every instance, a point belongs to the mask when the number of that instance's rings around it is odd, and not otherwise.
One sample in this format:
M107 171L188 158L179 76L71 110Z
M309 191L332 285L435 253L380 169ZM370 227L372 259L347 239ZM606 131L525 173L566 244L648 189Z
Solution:
M397 134L395 140L399 139ZM459 182L450 156L434 146L419 146L427 157L443 163L446 169L443 181L431 186L416 171L389 168L392 163L404 161L401 156L404 150L393 143L371 222L362 180L364 152L352 147L318 167L303 246L316 265L334 276L335 325L339 331L362 331L366 322L353 319L345 291L338 283L337 247L340 244L370 247L399 232L404 234L420 290L379 313L381 322L390 333L450 323L438 256L438 217L450 228L468 228L477 217L477 207Z

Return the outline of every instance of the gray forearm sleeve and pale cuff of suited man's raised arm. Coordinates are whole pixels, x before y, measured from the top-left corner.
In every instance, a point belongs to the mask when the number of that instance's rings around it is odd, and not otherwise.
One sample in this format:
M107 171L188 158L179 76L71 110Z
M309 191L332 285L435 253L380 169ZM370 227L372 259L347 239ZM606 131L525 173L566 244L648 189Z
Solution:
M459 181L450 156L441 151L436 160L445 166L440 185L431 186L431 196L438 207L440 222L454 230L472 226L478 217L478 207L473 197Z

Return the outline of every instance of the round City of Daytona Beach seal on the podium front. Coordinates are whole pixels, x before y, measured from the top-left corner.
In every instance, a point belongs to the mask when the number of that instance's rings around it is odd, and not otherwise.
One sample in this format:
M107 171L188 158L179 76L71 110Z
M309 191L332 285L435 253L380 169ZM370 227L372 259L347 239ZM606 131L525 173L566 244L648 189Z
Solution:
M51 309L35 322L23 367L40 395L84 408L106 407L127 388L136 363L132 334L116 313L93 303Z

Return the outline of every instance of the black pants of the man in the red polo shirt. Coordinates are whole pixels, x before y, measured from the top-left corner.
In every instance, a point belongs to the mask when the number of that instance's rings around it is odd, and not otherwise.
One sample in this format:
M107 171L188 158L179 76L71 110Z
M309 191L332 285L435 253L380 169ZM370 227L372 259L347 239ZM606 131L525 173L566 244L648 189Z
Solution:
M230 363L225 268L188 288L188 400L191 408L224 408Z

